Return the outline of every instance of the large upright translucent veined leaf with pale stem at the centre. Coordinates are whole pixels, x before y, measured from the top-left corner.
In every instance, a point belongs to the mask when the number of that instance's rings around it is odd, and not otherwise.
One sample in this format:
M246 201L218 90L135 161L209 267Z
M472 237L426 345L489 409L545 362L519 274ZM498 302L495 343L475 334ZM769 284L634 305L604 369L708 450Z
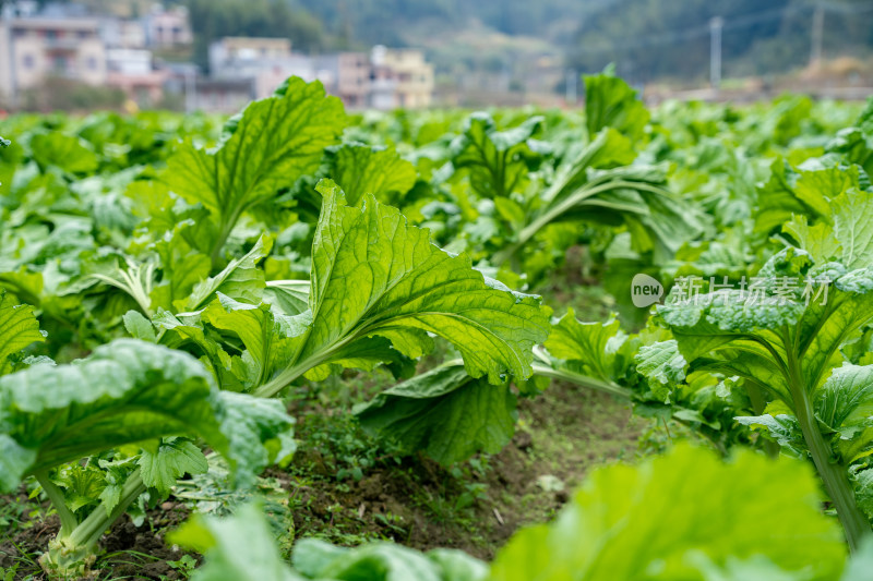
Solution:
M539 298L483 278L467 256L441 251L427 230L371 195L351 207L333 182L319 189L310 308L299 315L312 322L295 337L286 370L259 395L274 395L316 366L358 359L361 349L370 353L361 340L373 336L409 358L430 350L428 334L441 336L461 351L467 373L494 384L503 373L530 375L531 348L548 334Z

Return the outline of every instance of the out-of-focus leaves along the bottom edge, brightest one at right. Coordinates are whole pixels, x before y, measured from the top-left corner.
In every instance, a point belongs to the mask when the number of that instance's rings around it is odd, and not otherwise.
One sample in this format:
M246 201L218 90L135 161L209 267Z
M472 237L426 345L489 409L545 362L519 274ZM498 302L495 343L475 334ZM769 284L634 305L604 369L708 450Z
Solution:
M636 467L597 470L555 521L516 533L490 572L457 550L421 554L385 542L344 548L315 538L296 544L291 569L256 505L223 520L194 517L170 540L204 553L198 581L838 579L846 548L818 504L803 462L749 450L723 462L682 445ZM864 579L869 550L850 561L844 581Z

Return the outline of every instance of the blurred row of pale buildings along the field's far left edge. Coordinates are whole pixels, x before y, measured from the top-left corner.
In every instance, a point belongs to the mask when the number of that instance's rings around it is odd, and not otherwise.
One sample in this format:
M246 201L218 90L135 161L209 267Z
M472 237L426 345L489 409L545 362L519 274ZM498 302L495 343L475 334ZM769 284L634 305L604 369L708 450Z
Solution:
M0 7L0 98L13 106L51 77L118 88L141 107L183 100L186 110L216 112L268 97L289 76L320 80L349 109L421 108L432 99L433 68L420 50L309 56L287 38L226 37L210 46L204 76L193 63L167 62L193 41L184 7L156 3L142 17L76 2Z

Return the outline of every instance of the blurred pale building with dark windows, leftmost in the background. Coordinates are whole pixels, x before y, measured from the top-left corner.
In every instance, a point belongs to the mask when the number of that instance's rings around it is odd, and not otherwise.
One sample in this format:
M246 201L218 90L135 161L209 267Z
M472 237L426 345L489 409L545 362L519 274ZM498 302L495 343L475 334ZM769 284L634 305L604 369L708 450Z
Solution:
M0 92L4 100L48 76L106 83L106 48L97 19L5 14L0 22Z

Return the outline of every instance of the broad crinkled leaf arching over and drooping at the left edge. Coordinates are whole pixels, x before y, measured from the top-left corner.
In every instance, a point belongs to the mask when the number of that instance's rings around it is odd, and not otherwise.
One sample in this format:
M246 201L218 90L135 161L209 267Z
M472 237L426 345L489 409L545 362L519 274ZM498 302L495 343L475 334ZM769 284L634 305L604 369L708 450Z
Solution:
M191 355L135 339L69 365L41 363L0 378L0 485L124 444L198 435L243 475L287 455L291 419L278 402L219 392ZM273 444L275 441L275 444ZM157 481L156 481L157 482Z

